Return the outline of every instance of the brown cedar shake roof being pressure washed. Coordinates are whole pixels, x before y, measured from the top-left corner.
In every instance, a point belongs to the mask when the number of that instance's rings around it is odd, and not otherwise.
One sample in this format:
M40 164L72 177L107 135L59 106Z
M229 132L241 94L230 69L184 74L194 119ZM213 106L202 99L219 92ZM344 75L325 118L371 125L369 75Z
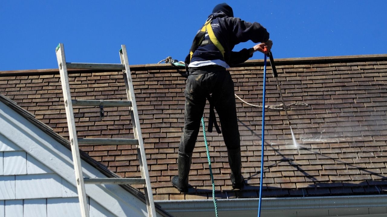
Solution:
M387 193L387 54L275 59L298 147L284 111L265 112L264 197L308 197ZM270 67L268 67L270 69ZM188 194L171 185L184 122L183 68L167 64L131 66L155 200L212 198L200 129L192 157ZM263 61L229 69L235 93L262 104ZM82 73L82 74L81 74ZM81 76L82 75L82 76ZM279 105L276 80L268 70L266 105ZM69 71L72 97L126 100L122 71ZM67 137L58 70L0 71L0 93ZM248 185L232 190L223 137L206 132L218 198L259 197L262 110L236 99L242 174ZM75 107L79 137L133 138L128 108ZM208 105L205 116L208 117ZM206 119L207 121L207 119ZM199 127L199 126L198 126ZM120 176L140 176L132 146L80 146ZM141 187L141 186L136 186Z

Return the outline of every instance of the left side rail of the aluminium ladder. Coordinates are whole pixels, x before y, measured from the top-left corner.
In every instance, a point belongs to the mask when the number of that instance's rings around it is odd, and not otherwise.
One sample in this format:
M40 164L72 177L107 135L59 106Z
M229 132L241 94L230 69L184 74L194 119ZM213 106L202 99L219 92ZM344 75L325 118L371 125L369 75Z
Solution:
M77 141L77 131L75 130L74 111L72 110L70 85L68 83L68 73L63 44L59 44L56 50L60 80L63 90L63 101L65 102L68 134L70 137L71 153L74 162L75 179L78 191L80 212L82 217L89 217L89 209L86 199L86 190L82 174L82 165L80 163L79 147Z

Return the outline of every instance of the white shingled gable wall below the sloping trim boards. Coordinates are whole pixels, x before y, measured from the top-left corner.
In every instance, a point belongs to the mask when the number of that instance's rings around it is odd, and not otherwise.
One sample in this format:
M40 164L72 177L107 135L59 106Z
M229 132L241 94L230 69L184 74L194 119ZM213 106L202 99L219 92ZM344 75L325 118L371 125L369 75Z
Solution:
M91 216L115 216L94 200L88 202ZM0 217L79 213L77 189L0 133Z

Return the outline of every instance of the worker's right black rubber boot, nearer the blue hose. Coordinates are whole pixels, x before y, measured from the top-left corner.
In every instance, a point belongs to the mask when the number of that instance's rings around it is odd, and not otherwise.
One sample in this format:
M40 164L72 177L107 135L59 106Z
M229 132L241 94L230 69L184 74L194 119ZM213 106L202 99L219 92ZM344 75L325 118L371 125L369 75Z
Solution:
M231 168L231 184L235 189L241 189L245 185L245 178L241 173L241 149L227 150L228 152L228 164Z

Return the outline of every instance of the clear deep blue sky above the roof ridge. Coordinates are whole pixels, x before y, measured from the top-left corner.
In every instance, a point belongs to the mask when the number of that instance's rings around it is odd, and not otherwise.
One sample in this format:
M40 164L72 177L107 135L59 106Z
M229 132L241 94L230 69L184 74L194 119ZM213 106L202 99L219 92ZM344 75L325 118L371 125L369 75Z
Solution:
M183 60L212 8L224 1L2 0L0 71L57 68L67 62L130 64ZM227 2L235 17L270 32L274 58L387 53L386 0L272 0ZM234 50L251 47L238 44ZM263 58L255 53L252 59Z

